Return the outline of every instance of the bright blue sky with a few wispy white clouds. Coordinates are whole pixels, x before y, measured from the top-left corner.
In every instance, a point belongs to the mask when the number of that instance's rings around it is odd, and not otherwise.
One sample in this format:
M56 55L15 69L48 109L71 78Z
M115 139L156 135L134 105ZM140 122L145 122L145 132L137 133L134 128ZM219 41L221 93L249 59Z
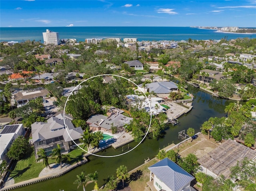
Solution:
M0 0L0 27L256 27L256 0Z

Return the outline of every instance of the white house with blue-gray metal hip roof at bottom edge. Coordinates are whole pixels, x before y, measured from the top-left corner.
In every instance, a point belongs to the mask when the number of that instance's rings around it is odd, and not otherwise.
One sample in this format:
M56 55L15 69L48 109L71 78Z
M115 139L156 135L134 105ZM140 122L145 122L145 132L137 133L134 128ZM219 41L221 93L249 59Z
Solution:
M190 186L195 178L169 158L148 167L150 181L147 185L152 191L196 191Z

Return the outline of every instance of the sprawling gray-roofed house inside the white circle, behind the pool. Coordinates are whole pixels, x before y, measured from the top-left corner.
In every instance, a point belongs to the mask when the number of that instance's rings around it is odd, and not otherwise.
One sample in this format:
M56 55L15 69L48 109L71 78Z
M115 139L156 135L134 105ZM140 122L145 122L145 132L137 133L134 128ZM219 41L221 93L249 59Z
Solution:
M111 132L111 127L115 126L118 128L118 131L123 131L124 126L130 124L133 118L126 117L122 113L124 111L118 108L111 108L107 116L96 114L90 116L86 123L90 126L90 130L102 130L105 132Z

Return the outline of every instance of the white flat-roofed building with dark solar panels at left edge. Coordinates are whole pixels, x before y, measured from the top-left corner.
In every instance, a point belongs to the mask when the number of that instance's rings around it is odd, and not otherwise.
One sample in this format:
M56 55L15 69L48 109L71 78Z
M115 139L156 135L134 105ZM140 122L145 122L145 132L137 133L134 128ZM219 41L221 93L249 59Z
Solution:
M0 132L0 163L2 160L9 162L7 152L12 143L18 136L24 136L25 129L23 124L6 125Z

